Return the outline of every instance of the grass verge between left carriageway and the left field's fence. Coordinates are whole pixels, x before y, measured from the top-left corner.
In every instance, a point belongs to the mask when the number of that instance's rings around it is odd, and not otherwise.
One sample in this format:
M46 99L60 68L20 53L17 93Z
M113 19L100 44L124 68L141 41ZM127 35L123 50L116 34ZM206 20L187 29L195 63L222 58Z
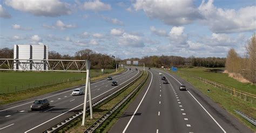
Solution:
M114 71L109 74L95 76L91 78L91 81L93 82L98 79L103 79L108 77L109 75L116 75L117 73L120 73L123 71L125 71L125 69L121 68L117 72ZM85 75L85 73L83 74ZM30 88L28 90L18 91L14 93L0 94L0 105L6 105L11 102L29 99L32 97L37 97L38 95L47 94L50 92L55 92L55 91L63 90L65 88L82 85L82 84L85 84L85 79L70 81L70 82L65 82L65 83L60 83L55 85L43 86L43 87Z

